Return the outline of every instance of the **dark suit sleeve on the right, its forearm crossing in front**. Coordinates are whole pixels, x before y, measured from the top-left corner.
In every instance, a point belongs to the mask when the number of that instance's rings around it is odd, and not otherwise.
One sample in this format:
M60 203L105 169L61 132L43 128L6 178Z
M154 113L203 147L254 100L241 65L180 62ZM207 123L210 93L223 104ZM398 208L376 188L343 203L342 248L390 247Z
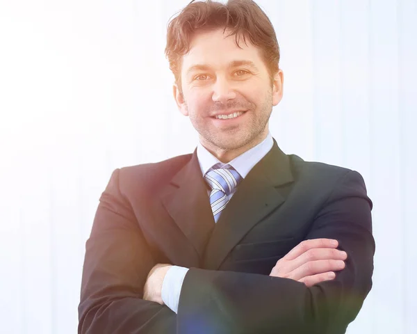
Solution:
M305 239L338 239L348 255L332 281L306 287L286 278L190 269L178 333L345 333L372 286L371 208L361 175L350 171L313 218Z

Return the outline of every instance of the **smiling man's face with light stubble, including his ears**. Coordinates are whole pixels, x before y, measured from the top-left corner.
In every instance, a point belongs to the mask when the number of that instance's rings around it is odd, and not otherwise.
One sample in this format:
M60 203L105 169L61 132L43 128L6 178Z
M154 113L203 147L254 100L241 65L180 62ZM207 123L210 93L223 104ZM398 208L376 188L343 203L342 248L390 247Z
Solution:
M281 70L271 78L260 51L247 39L236 45L223 29L197 33L181 66L182 95L174 96L183 115L211 152L251 148L268 134L272 106L282 97Z

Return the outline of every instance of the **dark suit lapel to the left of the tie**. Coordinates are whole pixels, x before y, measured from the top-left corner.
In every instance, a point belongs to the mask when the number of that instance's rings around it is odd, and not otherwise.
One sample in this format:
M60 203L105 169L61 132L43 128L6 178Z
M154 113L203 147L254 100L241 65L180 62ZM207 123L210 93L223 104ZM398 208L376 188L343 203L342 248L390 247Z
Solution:
M206 184L195 151L161 196L163 205L200 258L214 227Z

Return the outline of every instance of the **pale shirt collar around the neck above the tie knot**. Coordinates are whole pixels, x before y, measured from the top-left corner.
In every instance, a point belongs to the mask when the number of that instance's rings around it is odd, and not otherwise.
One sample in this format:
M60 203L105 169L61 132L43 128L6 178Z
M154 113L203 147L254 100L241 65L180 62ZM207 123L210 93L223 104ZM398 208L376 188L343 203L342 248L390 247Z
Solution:
M241 177L245 178L250 170L254 168L254 166L258 164L263 157L265 157L273 145L274 141L270 132L268 132L268 136L266 136L261 143L240 154L238 157L230 161L229 165L236 169ZM213 154L208 152L202 143L198 143L197 145L197 158L203 176L206 175L208 170L215 164L221 164L222 166L226 165L220 162Z

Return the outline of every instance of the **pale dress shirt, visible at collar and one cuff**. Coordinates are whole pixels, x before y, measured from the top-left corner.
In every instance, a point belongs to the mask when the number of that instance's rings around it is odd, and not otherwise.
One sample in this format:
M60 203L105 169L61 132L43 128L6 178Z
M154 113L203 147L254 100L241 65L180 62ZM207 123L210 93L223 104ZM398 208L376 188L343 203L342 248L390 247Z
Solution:
M240 154L228 164L236 169L236 171L244 179L250 170L254 168L254 166L270 151L272 145L274 145L274 141L271 134L268 133L268 136L261 143ZM206 150L201 143L197 145L197 159L203 176L215 164L222 164L222 162L213 156L213 154L208 152L208 150ZM224 166L226 164L222 165ZM229 194L229 200L231 196L234 195L236 188ZM208 193L210 193L210 191L208 191ZM178 310L179 295L181 294L181 287L187 271L188 268L172 266L168 269L162 283L162 300L165 305L167 305L167 307L175 313L177 313Z

